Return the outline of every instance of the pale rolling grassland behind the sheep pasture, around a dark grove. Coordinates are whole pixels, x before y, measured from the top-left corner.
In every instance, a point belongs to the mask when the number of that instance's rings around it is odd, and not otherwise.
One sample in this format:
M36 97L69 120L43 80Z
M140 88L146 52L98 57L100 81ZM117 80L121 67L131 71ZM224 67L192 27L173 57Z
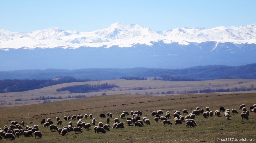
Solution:
M170 81L160 81L160 80L103 80L103 81L89 81L89 82L75 82L75 83L63 83L54 86L48 86L42 89L35 89L25 92L9 92L9 93L0 93L0 104L4 104L6 106L19 106L24 104L39 104L43 103L44 100L30 100L31 98L38 98L39 96L49 96L49 97L62 97L63 99L53 99L53 101L63 101L68 100L70 98L65 99L65 97L77 96L77 95L85 95L86 97L98 96L102 95L102 93L106 93L106 95L121 95L121 94L139 94L145 95L145 93L159 93L157 95L161 95L161 92L167 91L192 91L192 90L200 90L200 89L232 89L232 88L241 88L242 86L245 88L251 88L251 85L255 85L256 80L249 79L222 79L222 80L203 80L203 81L182 81L182 82L170 82ZM90 92L90 93L70 93L69 91L57 92L56 89L66 86L73 85L82 85L82 84L117 84L117 88L112 88L109 90L104 90L100 92ZM143 90L134 90L134 88L142 87ZM149 89L151 87L151 89ZM248 91L250 92L250 91ZM254 91L252 91L254 92ZM16 100L16 101L15 101ZM11 103L11 105L9 105Z

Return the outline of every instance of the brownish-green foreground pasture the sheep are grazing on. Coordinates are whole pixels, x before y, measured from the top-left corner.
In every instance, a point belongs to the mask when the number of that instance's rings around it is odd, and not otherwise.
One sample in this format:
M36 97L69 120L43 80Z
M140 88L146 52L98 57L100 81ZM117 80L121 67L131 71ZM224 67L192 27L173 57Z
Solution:
M105 95L90 98L79 98L66 101L58 101L44 104L33 104L14 107L0 106L0 127L10 125L11 121L18 120L19 123L25 120L25 125L39 125L39 131L42 132L41 139L34 137L15 139L15 142L214 142L214 136L245 136L247 138L256 138L256 114L250 112L249 120L241 120L241 110L239 106L245 104L249 108L256 104L256 93L243 94L192 94L192 95ZM221 112L220 117L203 118L202 115L196 116L197 126L186 128L185 122L181 125L175 125L173 111L188 109L189 113L196 107L205 110L210 107L211 111L219 109L237 109L239 114L230 115L226 120ZM161 109L164 113L171 113L170 121L173 125L163 126L162 122L155 123L152 111ZM127 126L126 119L120 119L120 114L124 111L142 111L142 116L151 121L151 125L143 127ZM105 134L95 134L93 130L83 129L83 133L68 133L67 136L61 136L58 132L50 132L49 128L43 128L40 124L42 118L51 118L56 124L56 117L61 117L63 128L69 121L64 121L63 117L67 115L92 114L98 122L106 124L106 118L100 118L100 113L111 112L113 118L110 120L110 126L114 123L114 118L119 118L125 124L124 128L112 129ZM163 115L164 116L164 115ZM131 115L126 116L131 117ZM83 119L85 123L91 123L92 119ZM77 120L72 120L73 124ZM1 142L6 142L2 140ZM10 142L8 140L8 142Z

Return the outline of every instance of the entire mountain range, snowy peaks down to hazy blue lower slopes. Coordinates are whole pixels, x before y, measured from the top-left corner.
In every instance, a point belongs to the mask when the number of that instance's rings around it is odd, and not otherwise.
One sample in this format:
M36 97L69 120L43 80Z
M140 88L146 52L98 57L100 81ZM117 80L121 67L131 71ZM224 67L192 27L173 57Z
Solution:
M0 30L0 71L188 68L256 63L256 24L155 31L120 22L92 32Z

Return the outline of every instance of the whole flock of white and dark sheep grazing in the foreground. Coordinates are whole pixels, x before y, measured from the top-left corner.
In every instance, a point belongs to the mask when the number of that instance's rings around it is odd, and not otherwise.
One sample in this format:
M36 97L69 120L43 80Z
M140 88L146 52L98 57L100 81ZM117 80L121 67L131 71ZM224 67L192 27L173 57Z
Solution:
M240 105L239 107L240 110L242 110L242 120L244 119L249 119L249 111L256 113L256 104L250 107L249 110L245 108L245 104ZM232 109L232 114L238 114L238 111L236 109ZM224 107L220 107L220 111L216 110L214 112L214 115L219 116L220 112L224 112L223 116L226 118L226 120L229 120L229 115L230 115L230 110L229 109L224 109ZM188 114L188 115L186 115ZM127 117L129 115L132 115L131 117ZM164 112L162 110L157 110L152 112L152 117L154 117L154 121L158 122L163 122L163 125L172 125L171 121L168 120L170 118L170 112L167 111L165 116ZM186 115L185 117L183 115ZM195 122L195 117L198 115L203 115L204 118L213 117L213 112L210 111L209 107L204 109L200 109L200 107L196 107L195 110L192 111L192 113L188 113L188 110L184 109L183 114L180 113L180 111L174 111L173 116L174 116L174 121L175 124L182 124L183 122L186 122L186 127L195 127L196 122ZM99 115L101 118L106 118L106 115L104 113L101 113ZM143 117L141 120L142 112L141 111L131 111L130 113L127 111L123 111L121 113L120 118L126 118L126 124L128 126L133 126L134 127L143 127L145 124L150 125L150 120L147 117ZM58 131L59 135L61 134L62 136L68 135L68 132L73 132L73 133L82 133L83 128L89 130L91 129L91 124L90 123L85 123L83 122L83 117L85 119L90 118L92 119L92 114L85 114L85 115L73 115L73 116L64 116L64 121L69 121L67 126L64 126L63 128L58 128L58 126L62 125L62 121L60 117L56 117L57 120L57 125L53 124L53 121L48 118L47 120L42 119L41 124L42 127L46 128L49 127L49 131ZM92 125L94 125L94 131L95 133L106 133L106 131L110 131L110 118L113 118L113 115L111 113L107 113L107 119L106 123L103 124L102 122L99 122L96 124L96 119L92 119ZM71 120L77 120L77 123L73 125L73 122ZM185 120L185 121L184 121ZM9 126L5 125L4 130L0 128L0 139L5 138L6 140L15 140L15 138L19 138L20 136L24 137L33 137L35 136L35 139L42 138L42 133L39 131L39 126L38 125L33 125L33 126L24 126L25 121L21 121L21 124L18 124L18 121L11 121L11 124ZM114 119L114 123L112 126L113 129L118 129L118 128L124 128L124 123L120 122L118 118Z

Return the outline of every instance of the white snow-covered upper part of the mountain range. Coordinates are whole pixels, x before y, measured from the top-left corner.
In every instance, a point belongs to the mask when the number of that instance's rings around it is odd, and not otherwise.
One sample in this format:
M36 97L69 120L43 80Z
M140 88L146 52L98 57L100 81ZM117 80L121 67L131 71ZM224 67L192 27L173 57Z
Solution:
M114 23L92 32L64 31L49 28L32 32L0 30L0 48L79 48L79 47L133 47L136 44L152 45L154 42L189 45L207 41L232 42L234 44L256 43L256 25L240 27L180 27L167 31L155 31L141 25Z

